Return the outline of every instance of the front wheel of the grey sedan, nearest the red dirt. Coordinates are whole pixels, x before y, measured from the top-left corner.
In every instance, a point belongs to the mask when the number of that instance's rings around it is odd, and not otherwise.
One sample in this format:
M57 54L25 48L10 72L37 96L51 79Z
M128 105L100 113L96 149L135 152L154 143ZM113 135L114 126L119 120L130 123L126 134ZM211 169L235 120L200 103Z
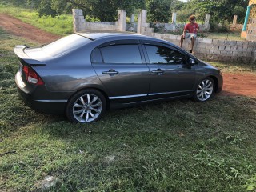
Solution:
M214 94L214 80L210 77L202 79L196 90L194 91L193 99L195 102L206 102Z

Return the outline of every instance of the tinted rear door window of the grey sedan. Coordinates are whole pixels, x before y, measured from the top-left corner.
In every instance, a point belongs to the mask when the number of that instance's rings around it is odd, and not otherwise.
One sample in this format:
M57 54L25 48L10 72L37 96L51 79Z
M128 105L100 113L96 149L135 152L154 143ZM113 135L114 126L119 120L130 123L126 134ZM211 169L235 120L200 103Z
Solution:
M138 45L114 45L101 49L105 63L142 63Z

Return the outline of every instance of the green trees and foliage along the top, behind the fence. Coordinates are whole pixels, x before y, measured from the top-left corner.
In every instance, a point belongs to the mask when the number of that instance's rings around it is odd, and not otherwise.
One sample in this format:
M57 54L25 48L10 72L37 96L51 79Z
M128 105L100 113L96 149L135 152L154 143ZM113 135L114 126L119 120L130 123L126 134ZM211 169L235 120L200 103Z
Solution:
M70 13L71 8L84 10L90 18L102 22L117 20L118 9L126 10L127 16L136 10L146 9L149 22L169 22L171 13L177 12L178 21L186 22L191 14L204 21L210 14L210 22L232 22L234 14L238 22L243 22L246 14L247 0L10 0L14 6L38 9L39 15L56 16Z

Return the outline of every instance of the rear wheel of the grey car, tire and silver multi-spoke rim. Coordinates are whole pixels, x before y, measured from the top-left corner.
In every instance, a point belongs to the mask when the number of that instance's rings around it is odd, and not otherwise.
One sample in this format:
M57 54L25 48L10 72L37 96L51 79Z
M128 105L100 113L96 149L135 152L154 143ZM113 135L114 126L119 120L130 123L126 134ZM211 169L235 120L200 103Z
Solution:
M82 90L74 94L66 107L71 122L88 123L102 118L106 111L106 98L98 90Z

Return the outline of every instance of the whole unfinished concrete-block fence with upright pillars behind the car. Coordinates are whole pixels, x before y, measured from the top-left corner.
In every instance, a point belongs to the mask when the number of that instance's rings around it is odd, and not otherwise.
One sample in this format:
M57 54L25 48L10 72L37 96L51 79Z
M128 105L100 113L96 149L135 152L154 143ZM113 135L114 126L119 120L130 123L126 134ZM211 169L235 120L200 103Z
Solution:
M126 31L126 29L134 26L126 27L126 11L118 10L118 22L112 23L99 23L99 22L86 22L82 15L82 10L73 10L74 15L74 31L84 30L111 30L111 31ZM206 17L209 20L209 16ZM206 21L209 24L209 21ZM202 26L206 29L209 26ZM248 35L247 40L256 34L256 19L249 25L251 33ZM168 42L172 42L179 46L180 35L173 34L158 34L154 33L153 28L146 22L146 10L142 10L138 14L137 33L145 34L154 38L162 38ZM190 49L190 40L183 43L185 50ZM256 62L256 42L254 41L226 41L210 38L197 38L194 44L194 54L198 58L210 61L221 62Z

